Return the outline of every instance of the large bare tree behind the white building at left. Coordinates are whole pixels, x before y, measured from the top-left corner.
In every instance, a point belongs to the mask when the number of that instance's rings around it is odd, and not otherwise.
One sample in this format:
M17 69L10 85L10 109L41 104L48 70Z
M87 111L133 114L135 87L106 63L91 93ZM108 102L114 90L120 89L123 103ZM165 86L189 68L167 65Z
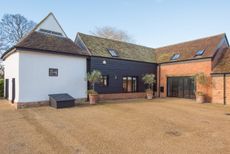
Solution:
M0 49L6 50L27 34L35 23L20 14L5 14L0 21Z

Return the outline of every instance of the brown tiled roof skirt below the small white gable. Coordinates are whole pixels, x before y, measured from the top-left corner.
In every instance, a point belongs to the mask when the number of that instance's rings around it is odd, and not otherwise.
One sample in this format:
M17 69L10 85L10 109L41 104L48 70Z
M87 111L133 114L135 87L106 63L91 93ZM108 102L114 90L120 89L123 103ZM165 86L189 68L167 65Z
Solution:
M59 37L42 32L33 31L22 39L16 48L27 48L54 51L66 54L87 55L86 51L80 49L71 39Z

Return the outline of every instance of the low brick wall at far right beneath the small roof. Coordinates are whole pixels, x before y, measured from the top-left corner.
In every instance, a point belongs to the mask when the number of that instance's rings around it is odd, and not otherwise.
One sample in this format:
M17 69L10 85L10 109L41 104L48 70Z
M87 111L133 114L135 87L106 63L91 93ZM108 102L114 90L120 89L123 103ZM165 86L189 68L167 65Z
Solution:
M224 77L223 75L215 75L212 77L213 88L212 88L212 102L224 104ZM225 95L226 104L230 104L230 75L226 75L225 82Z

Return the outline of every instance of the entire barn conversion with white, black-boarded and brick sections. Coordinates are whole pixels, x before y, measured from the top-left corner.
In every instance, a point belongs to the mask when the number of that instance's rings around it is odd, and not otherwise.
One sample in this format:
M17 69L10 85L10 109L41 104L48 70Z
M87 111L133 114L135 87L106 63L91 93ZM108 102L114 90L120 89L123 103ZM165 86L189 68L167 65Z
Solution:
M82 33L73 42L50 13L2 59L5 97L18 108L47 104L49 94L87 98L85 77L94 69L102 72L100 100L145 97L141 78L153 73L157 97L192 99L203 91L208 102L230 104L225 34L156 49ZM211 81L208 87L194 78L201 72Z

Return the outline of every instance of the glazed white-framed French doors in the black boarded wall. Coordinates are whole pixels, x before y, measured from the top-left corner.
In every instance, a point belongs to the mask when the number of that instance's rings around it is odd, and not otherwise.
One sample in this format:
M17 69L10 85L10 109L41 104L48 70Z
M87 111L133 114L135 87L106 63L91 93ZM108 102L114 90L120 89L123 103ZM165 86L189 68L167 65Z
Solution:
M137 92L137 77L123 77L123 92Z

